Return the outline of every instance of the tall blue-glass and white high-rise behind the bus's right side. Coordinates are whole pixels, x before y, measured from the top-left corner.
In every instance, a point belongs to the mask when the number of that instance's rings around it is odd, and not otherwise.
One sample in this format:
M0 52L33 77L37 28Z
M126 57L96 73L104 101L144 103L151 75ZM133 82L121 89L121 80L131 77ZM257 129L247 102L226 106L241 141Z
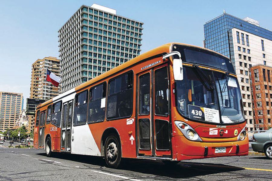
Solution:
M254 130L250 68L257 64L272 66L272 32L249 17L240 19L224 13L204 24L204 47L232 61L240 84L245 119Z

